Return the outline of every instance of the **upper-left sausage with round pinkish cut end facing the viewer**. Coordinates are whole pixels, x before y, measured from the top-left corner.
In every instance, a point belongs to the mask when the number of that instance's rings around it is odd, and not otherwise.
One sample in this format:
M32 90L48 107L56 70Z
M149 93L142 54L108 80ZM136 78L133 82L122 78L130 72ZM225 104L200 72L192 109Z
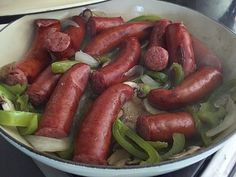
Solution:
M78 26L69 26L64 32L56 32L47 39L47 48L59 60L71 58L80 45L86 33L85 20L81 16L74 16L72 20Z

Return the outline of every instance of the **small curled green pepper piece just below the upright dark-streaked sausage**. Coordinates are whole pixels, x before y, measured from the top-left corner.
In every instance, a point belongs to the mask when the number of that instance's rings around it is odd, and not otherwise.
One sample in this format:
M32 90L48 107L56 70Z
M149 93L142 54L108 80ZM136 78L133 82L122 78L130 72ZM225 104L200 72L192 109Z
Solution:
M170 73L174 75L173 84L174 86L180 84L184 80L184 70L183 67L178 63L173 63L170 67Z

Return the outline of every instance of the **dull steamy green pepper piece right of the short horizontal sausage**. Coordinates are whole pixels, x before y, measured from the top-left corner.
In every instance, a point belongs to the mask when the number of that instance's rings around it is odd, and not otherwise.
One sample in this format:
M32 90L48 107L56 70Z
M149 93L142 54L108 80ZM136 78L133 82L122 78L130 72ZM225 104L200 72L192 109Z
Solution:
M211 127L218 125L226 115L226 110L223 106L216 109L209 101L200 105L198 116L202 122L208 123Z

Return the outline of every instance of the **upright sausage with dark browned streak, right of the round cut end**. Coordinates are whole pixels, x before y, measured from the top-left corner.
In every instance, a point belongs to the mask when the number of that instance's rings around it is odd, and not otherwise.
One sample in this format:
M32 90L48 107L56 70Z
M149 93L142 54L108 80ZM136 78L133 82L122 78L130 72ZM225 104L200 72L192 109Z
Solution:
M170 56L170 63L181 64L185 76L196 70L192 40L182 23L172 23L167 26L166 45Z

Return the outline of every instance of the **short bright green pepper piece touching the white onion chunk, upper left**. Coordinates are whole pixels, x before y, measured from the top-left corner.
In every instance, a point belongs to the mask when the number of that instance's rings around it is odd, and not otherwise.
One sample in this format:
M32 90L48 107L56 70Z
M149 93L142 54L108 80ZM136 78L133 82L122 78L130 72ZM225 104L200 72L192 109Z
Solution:
M51 64L51 69L53 73L65 73L73 65L78 63L80 62L76 60L57 61Z

